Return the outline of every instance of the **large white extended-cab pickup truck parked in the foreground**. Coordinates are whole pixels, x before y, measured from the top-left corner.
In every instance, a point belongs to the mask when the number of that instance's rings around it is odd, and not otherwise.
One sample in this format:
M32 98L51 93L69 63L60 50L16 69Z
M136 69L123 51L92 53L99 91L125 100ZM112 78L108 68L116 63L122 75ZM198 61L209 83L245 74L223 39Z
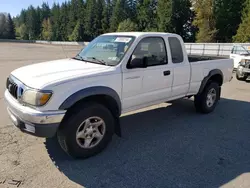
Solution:
M5 99L21 131L57 136L68 154L87 158L121 136L123 113L192 96L198 112L212 112L232 71L230 59L188 57L176 34L108 33L74 58L14 70Z

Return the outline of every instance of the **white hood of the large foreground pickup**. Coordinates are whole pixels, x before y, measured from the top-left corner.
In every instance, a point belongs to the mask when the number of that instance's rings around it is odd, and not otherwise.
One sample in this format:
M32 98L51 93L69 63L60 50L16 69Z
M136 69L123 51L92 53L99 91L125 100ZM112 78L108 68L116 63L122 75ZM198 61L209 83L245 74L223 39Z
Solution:
M41 89L50 83L105 72L110 68L74 59L62 59L24 66L11 74L25 85Z

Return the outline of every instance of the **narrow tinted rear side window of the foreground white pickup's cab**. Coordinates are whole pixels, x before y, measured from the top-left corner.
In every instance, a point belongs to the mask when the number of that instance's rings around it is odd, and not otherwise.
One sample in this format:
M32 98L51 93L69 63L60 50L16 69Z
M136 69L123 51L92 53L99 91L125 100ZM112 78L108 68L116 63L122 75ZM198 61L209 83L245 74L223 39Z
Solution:
M169 37L168 38L169 45L170 45L170 51L172 56L172 62L173 63L182 63L183 58L183 51L181 47L181 43L178 38L176 37Z

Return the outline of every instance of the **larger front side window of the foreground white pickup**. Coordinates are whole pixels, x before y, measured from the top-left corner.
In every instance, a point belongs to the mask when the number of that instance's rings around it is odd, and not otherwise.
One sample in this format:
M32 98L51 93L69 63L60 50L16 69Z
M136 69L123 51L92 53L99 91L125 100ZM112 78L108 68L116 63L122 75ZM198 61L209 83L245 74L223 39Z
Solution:
M164 65L168 63L165 42L160 37L148 37L142 39L136 46L129 68L142 67L144 63L147 66Z

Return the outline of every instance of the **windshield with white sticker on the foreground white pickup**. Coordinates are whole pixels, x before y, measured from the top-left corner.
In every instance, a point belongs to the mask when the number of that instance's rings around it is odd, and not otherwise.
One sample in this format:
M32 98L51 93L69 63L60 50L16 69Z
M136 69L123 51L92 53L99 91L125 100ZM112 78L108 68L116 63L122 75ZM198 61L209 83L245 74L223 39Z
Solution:
M120 63L133 41L132 36L102 35L91 41L75 59L115 66Z

